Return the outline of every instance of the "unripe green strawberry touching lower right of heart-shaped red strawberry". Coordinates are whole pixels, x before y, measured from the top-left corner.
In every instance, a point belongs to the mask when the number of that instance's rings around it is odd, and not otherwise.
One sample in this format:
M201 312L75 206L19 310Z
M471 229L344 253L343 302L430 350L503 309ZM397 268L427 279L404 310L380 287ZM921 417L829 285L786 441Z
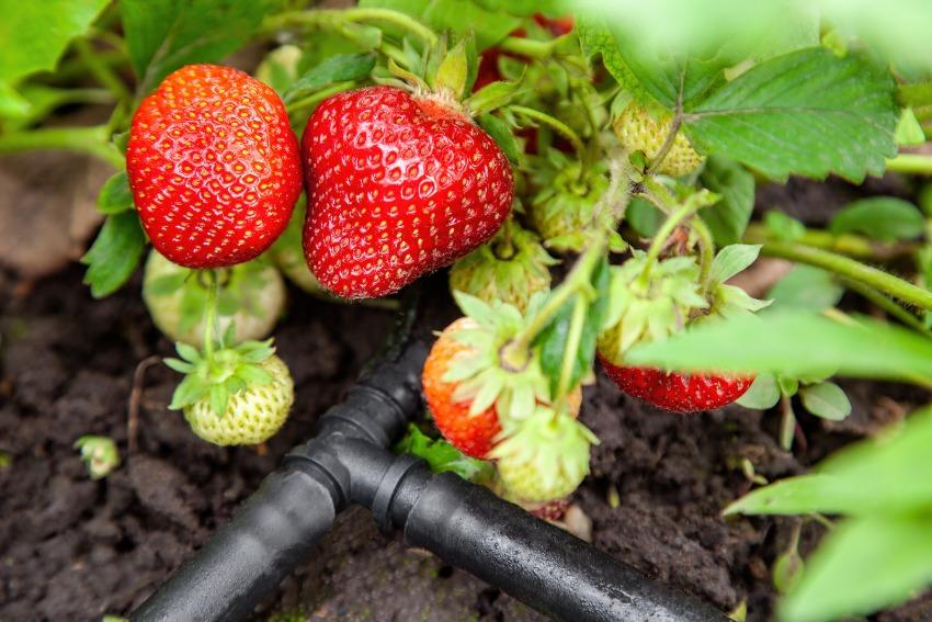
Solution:
M536 235L509 220L490 242L453 265L450 289L524 312L534 294L550 289L549 267L555 263Z

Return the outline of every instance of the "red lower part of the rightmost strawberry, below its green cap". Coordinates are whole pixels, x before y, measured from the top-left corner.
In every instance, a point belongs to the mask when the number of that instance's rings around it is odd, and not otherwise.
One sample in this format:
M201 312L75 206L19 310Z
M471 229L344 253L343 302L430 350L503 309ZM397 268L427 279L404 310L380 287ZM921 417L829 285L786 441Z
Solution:
M651 367L615 365L601 354L599 360L618 388L648 404L673 412L713 410L731 404L753 383L752 377L717 374L684 374Z

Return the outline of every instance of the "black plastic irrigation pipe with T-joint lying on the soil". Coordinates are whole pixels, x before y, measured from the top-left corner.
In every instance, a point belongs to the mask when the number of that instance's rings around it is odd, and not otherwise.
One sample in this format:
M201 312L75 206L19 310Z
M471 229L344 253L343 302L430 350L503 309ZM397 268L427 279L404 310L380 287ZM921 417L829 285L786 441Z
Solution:
M230 621L247 617L351 504L365 506L405 543L501 588L556 619L573 622L724 622L711 606L661 587L634 568L486 488L432 474L388 451L420 408L423 343L397 349L342 404L318 434L295 448L214 536L129 619Z

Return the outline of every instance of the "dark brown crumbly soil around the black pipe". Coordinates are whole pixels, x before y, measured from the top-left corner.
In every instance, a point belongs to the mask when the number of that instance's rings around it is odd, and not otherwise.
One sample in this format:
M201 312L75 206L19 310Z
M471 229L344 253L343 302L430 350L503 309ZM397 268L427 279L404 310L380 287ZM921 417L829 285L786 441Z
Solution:
M808 196L803 200L814 211L825 199L796 183L761 196L760 208ZM808 215L819 219L821 213ZM138 282L92 301L78 267L32 285L0 271L0 621L127 613L308 437L315 418L376 351L391 317L292 294L275 335L295 376L296 407L268 448L219 449L195 438L180 415L166 409L177 377L154 365L141 394L139 450L127 455L134 370L152 354L171 352L139 301ZM442 328L454 313L434 308L421 330ZM749 620L769 619L769 568L795 519L720 517L752 486L742 460L768 479L798 474L929 398L897 385L844 387L852 416L831 425L803 416L805 442L788 454L774 441L773 412L729 407L693 417L667 414L625 397L600 374L584 392L581 417L602 442L593 450L592 475L575 496L593 521L594 544L725 611L747 600ZM101 482L88 478L72 449L89 433L114 438L124 457ZM803 533L808 552L823 529L807 523ZM398 535L380 534L360 509L339 517L254 618L283 612L315 621L541 619L442 561L405 551ZM878 619L932 620L932 600Z

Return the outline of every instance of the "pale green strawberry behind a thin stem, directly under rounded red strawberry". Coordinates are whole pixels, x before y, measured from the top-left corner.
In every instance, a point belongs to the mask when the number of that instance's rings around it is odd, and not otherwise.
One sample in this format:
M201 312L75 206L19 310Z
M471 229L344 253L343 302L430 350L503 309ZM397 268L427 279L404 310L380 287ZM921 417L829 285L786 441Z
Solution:
M172 341L204 344L208 287L196 270L177 265L152 250L143 275L143 299L152 321ZM268 337L285 309L285 284L274 267L240 263L220 273L220 332L232 324L235 341Z

